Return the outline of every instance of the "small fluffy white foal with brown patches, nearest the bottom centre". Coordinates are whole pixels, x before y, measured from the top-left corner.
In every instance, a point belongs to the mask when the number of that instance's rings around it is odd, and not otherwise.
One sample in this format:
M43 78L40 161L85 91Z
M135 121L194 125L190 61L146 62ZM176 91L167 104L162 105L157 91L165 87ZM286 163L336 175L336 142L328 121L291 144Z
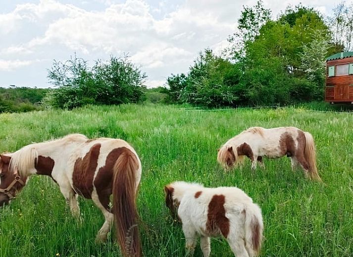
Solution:
M204 257L210 254L210 237L223 236L237 257L259 254L262 215L259 206L236 187L205 188L183 181L164 187L165 204L182 222L185 247L193 255L197 239Z

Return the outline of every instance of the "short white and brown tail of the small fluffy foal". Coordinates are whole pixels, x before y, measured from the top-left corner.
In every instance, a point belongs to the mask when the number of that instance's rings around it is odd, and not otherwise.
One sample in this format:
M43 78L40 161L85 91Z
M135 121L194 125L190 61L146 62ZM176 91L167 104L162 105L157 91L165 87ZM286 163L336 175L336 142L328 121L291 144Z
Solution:
M262 243L263 222L261 209L256 204L245 208L245 240L250 257L258 256Z

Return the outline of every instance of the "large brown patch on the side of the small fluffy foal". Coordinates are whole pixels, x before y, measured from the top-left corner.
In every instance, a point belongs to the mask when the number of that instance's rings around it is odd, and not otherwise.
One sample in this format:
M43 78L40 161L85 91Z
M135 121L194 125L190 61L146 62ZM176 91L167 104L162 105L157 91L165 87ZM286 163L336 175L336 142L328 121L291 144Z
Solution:
M224 195L214 195L208 204L206 229L210 235L220 233L227 238L229 234L229 219L225 216Z

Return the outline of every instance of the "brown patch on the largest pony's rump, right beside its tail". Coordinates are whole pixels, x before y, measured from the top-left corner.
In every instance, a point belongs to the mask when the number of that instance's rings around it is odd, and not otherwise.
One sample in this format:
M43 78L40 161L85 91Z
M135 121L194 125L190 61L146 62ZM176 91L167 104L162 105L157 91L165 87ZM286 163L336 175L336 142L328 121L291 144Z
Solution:
M126 151L127 148L115 148L106 156L105 164L97 173L93 184L96 187L98 198L107 210L109 210L110 195L112 193L113 167L118 157Z

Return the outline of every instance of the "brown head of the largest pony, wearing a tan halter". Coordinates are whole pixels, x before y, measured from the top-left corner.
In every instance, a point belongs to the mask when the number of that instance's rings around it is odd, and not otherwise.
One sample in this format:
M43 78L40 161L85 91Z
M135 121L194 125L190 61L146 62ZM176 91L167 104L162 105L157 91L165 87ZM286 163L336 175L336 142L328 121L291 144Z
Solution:
M9 168L10 160L10 156L0 154L0 206L7 205L25 185L17 170Z

